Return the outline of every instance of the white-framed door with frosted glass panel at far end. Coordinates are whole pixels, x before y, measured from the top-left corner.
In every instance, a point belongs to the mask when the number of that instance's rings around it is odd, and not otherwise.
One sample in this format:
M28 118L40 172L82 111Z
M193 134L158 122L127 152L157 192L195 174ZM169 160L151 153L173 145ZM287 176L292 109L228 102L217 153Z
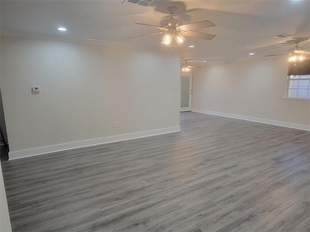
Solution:
M192 110L192 73L181 73L181 112Z

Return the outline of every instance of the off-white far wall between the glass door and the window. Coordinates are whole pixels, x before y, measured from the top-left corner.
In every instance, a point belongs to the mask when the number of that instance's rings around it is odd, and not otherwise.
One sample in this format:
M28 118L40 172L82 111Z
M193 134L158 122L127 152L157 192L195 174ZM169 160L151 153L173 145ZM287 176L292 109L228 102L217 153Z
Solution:
M265 120L259 121L307 130L310 102L282 99L287 87L287 68L286 58L252 58L207 65L193 73L193 109L261 118Z

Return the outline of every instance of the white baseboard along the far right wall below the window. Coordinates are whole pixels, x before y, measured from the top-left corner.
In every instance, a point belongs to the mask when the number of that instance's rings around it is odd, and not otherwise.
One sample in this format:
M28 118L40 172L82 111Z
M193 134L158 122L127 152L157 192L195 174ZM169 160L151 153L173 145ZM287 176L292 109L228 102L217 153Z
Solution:
M192 109L192 112L202 113L202 114L207 114L207 115L232 117L232 118L242 119L242 120L247 120L247 121L252 121L252 122L261 122L261 123L276 125L276 126L280 126L280 127L289 127L289 128L294 128L294 129L298 129L298 130L310 131L310 126L308 126L308 125L301 125L301 124L295 124L295 123L290 123L290 122L281 122L281 121L264 119L264 118L259 118L259 117L233 115L233 114L227 114L227 113L221 113L221 112L215 112L215 111L208 111L208 110L200 110L200 109Z

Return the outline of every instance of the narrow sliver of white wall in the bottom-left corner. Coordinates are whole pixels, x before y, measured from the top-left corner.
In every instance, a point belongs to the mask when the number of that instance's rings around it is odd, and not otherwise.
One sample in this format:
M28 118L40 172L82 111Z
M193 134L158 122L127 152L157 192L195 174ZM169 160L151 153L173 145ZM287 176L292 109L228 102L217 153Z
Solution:
M8 203L6 202L6 194L2 176L0 163L0 232L11 232L11 221L9 216Z

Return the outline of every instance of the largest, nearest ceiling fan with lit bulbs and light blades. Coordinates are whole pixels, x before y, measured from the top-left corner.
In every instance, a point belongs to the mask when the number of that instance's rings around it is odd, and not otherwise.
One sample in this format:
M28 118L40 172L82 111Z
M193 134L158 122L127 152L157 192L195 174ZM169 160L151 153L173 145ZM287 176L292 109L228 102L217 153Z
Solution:
M160 27L145 24L145 23L136 23L142 26L148 26L148 27L153 27L155 29L159 29L161 30L160 32L133 36L133 37L129 37L126 39L132 39L132 38L148 36L148 35L164 34L162 43L167 47L170 46L171 51L172 51L172 47L175 46L174 41L176 41L176 43L178 44L181 44L185 41L184 36L200 38L203 40L212 40L214 37L216 37L216 35L193 31L194 29L215 27L215 24L210 22L209 20L204 20L200 22L189 23L189 24L183 25L182 20L176 19L173 17L173 14L177 12L176 7L171 6L171 7L168 7L167 10L169 14L171 15L171 17L169 19L162 21Z

